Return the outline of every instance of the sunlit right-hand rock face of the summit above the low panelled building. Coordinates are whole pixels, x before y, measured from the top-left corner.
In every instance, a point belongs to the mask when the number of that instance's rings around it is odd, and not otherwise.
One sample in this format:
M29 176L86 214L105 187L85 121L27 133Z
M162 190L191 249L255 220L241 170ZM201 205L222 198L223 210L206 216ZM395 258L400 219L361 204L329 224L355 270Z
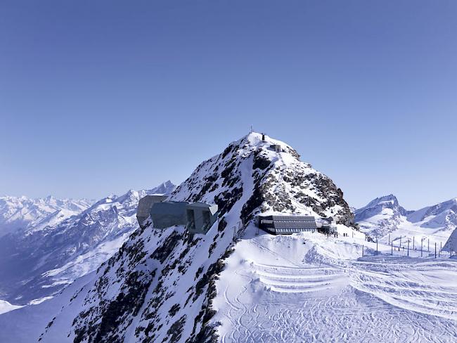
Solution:
M301 162L290 146L282 142L281 146L285 153L272 153L265 147L253 153L255 188L243 207L243 221L250 221L252 214L273 211L333 216L338 223L352 224L354 217L342 190L310 164Z

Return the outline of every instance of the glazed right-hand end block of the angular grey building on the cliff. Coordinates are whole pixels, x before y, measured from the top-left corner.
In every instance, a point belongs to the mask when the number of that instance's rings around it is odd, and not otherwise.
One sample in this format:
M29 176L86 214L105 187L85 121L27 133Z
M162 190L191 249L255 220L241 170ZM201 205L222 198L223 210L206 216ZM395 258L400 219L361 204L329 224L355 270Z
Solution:
M186 206L186 228L191 233L206 234L212 224L217 221L217 205L194 202Z

